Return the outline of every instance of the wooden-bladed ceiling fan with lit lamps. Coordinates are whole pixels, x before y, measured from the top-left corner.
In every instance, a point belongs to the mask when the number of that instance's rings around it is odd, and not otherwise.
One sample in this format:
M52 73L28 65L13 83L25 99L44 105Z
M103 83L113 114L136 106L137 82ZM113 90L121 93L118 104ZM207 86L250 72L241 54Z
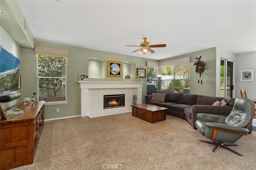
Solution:
M132 51L132 53L134 53L136 51L140 51L140 53L143 53L143 54L146 54L146 52L148 52L148 53L156 52L151 48L166 47L166 44L150 45L150 40L148 40L147 38L143 38L143 40L144 40L144 42L141 42L140 45L126 45L126 46L140 47L139 49L136 49L135 51Z

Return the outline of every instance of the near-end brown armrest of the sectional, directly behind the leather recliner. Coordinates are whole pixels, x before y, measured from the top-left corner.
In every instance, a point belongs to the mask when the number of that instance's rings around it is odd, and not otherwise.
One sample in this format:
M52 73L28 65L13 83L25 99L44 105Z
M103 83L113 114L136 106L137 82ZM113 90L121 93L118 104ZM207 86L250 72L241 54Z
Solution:
M233 106L212 106L212 105L193 105L191 108L192 127L196 128L195 122L198 113L208 113L211 115L220 115L227 117L232 111Z

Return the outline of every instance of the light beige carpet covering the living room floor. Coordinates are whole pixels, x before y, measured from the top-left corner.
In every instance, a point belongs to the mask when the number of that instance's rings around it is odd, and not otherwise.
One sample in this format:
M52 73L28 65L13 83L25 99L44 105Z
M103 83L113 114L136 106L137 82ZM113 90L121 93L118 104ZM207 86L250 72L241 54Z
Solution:
M148 123L131 113L47 121L34 163L17 170L254 170L256 132L230 148L214 145L183 119Z

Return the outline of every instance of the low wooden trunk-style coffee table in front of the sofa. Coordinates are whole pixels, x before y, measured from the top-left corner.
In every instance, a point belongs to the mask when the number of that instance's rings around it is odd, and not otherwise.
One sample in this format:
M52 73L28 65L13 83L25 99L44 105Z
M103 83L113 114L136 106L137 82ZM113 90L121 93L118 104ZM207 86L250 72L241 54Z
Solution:
M168 108L148 105L146 103L131 105L132 116L138 117L144 121L155 123L166 120L166 110Z

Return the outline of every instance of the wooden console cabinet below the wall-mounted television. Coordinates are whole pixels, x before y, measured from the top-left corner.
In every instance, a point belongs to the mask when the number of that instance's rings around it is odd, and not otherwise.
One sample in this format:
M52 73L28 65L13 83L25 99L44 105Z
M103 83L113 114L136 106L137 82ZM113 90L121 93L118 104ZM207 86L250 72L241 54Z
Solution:
M0 120L0 169L6 170L32 164L44 127L44 101L12 109L22 109L23 114Z

